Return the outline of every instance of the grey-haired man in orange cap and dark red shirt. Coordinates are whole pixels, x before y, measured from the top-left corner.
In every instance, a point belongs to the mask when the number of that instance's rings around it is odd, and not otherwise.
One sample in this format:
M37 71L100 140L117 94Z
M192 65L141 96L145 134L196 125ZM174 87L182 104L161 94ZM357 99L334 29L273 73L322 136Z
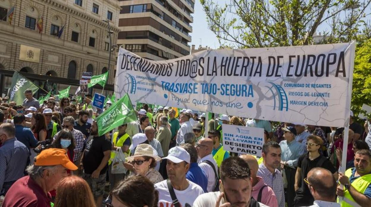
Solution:
M27 167L29 176L17 180L7 192L3 207L50 207L49 191L56 189L58 182L67 176L68 170L77 170L66 151L49 148L43 150L35 164Z

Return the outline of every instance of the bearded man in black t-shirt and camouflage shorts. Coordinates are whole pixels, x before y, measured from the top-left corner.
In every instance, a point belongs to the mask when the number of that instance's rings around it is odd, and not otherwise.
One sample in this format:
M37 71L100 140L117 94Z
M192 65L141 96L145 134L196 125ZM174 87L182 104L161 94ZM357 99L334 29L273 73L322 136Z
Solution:
M84 168L82 177L93 191L96 206L102 206L107 163L111 155L112 144L111 141L106 140L104 135L98 136L96 121L93 121L90 130L94 137L86 143L82 159Z

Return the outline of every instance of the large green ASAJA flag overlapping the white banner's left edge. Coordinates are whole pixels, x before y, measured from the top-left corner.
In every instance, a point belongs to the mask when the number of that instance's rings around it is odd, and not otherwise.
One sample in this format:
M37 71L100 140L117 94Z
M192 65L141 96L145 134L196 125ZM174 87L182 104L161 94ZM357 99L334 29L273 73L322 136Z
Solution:
M135 114L129 95L125 94L124 97L116 101L96 118L99 136L102 136L122 124L135 120L137 120L137 115Z

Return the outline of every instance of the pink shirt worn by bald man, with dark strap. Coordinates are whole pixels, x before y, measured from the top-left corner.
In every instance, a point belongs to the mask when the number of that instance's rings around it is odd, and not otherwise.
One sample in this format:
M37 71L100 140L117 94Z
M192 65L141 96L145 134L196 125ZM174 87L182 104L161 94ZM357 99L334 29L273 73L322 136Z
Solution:
M256 176L256 179L259 181L255 184L255 186L253 186L253 190L251 191L251 196L255 200L257 200L257 196L259 194L260 188L262 188L263 186L267 186L267 184L264 183L264 180L262 177ZM270 206L270 207L278 207L276 194L275 192L273 192L273 189L269 186L263 188L262 200L259 202L267 206Z

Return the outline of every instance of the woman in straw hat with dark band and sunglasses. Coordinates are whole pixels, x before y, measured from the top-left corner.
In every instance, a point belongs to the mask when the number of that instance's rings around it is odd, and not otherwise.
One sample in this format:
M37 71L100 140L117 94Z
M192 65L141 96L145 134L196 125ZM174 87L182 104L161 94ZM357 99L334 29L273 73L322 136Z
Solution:
M126 158L128 163L124 163L124 165L128 170L132 171L132 175L139 174L150 179L152 183L158 183L164 180L164 178L155 170L156 163L161 158L154 153L154 148L149 144L139 144L135 148L134 155Z

